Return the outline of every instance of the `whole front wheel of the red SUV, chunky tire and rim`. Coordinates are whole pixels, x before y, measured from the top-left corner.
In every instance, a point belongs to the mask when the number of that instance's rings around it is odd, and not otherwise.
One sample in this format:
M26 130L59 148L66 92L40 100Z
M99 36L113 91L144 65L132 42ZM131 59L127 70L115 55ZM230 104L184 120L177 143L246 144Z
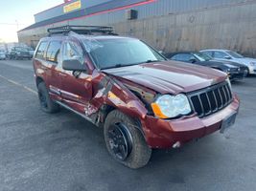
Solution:
M138 126L138 124L136 124L132 118L118 110L110 112L105 118L104 136L108 153L120 163L133 169L145 166L151 159L151 148L136 126ZM123 136L122 139L126 139L125 143L128 144L121 146L123 149L127 148L127 152L124 152L127 155L125 155L125 157L123 156L123 158L120 158L120 155L117 155L117 152L114 151L120 148L120 144L118 143L118 147L117 144L113 146L113 141L115 140L112 138L112 133L114 130L121 132Z

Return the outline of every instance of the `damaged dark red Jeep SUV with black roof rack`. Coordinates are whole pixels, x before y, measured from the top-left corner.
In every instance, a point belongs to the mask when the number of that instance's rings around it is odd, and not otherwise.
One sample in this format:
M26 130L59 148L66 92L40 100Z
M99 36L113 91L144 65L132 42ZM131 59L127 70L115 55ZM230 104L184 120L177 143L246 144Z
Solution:
M51 29L34 57L40 107L104 127L109 154L130 168L233 125L239 98L226 74L170 61L109 27Z

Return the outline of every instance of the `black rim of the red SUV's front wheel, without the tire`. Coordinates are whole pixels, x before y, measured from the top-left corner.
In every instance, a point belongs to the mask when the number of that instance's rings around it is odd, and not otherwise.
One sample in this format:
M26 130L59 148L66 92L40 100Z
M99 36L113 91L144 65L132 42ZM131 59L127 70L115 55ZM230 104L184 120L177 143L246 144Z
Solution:
M122 124L114 124L108 130L109 146L113 156L118 160L125 160L132 149L132 139L128 128Z

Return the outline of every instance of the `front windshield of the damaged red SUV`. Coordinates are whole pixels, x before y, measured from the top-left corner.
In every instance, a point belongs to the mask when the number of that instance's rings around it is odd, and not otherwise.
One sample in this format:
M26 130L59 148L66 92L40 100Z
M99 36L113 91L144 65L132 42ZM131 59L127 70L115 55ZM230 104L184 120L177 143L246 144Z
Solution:
M86 44L86 41L83 43ZM100 69L165 60L142 41L128 38L99 40L97 46L90 50L90 55Z

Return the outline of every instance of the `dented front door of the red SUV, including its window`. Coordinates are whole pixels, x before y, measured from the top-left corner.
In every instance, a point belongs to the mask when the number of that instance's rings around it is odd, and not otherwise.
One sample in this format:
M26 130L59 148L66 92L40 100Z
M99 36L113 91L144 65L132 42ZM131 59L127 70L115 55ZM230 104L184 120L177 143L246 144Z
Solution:
M85 63L85 55L82 52L81 44L76 40L67 40L62 45L62 61L74 60L80 61L81 65ZM91 74L78 71L65 71L59 69L61 75L61 97L63 102L72 109L84 114L85 108L89 106L89 100L92 97Z

